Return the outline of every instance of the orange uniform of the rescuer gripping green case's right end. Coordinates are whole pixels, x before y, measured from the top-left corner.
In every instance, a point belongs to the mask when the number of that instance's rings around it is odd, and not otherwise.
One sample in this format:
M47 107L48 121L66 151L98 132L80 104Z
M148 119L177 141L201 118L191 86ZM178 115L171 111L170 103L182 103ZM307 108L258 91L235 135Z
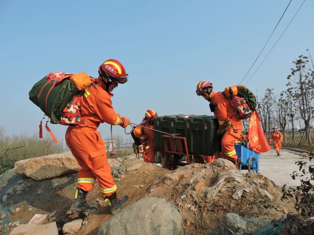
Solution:
M237 163L235 142L240 138L242 131L241 120L235 116L230 101L220 92L211 92L210 102L214 104L214 115L218 119L219 129L223 129L226 122L231 121L231 126L225 131L221 140L221 150L225 159Z

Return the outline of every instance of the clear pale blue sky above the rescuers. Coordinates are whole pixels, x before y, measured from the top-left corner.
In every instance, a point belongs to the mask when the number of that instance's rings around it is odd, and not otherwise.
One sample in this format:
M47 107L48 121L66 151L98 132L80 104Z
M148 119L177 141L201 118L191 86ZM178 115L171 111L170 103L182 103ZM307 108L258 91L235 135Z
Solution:
M293 0L252 75L303 0ZM116 112L140 123L158 115L212 114L195 95L199 81L215 91L239 84L273 31L288 0L278 1L16 1L0 2L0 126L7 135L38 133L43 116L31 87L51 71L98 76L107 59L120 60L129 81L115 89ZM306 0L263 65L246 84L258 94L285 89L292 60L314 53L314 2ZM58 139L66 126L49 125ZM101 124L103 138L110 125ZM121 127L114 134L125 136ZM128 136L129 137L129 136Z

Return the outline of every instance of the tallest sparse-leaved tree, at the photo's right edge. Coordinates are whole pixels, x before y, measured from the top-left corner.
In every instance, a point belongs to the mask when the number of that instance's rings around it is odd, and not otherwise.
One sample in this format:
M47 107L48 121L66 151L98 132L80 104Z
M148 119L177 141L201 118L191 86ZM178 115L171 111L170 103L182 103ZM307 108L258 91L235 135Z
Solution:
M299 59L293 63L295 68L291 69L291 74L287 77L289 80L287 86L298 106L297 115L304 121L307 143L311 144L310 121L314 113L314 67L313 69L310 67L308 57L303 55L300 55Z

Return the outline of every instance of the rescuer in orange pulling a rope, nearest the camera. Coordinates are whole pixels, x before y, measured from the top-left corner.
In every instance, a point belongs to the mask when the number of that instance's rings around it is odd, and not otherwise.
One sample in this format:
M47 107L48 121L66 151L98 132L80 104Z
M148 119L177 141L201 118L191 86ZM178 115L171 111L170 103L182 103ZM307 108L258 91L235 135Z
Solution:
M106 147L97 127L100 123L120 125L123 128L130 120L121 117L112 107L111 91L119 83L127 82L127 73L118 60L106 60L99 66L99 77L92 79L93 83L85 89L81 101L80 113L84 119L76 126L69 126L65 140L78 165L78 184L71 210L95 211L96 208L86 201L86 195L94 187L97 178L100 190L105 199L109 199L110 213L116 214L124 206L129 197L116 197L116 183L113 181L110 165L107 161Z

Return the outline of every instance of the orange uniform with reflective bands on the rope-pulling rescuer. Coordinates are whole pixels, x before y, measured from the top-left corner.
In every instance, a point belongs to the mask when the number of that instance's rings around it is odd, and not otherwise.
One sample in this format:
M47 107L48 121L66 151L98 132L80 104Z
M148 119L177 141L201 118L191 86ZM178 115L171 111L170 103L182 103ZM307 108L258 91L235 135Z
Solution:
M117 191L113 181L110 165L107 161L106 147L97 127L100 123L120 125L123 123L112 105L110 92L105 91L105 85L100 79L93 79L92 84L85 89L81 101L80 113L84 121L76 126L69 126L65 140L78 165L77 188L91 191L97 178L102 195L110 196Z

